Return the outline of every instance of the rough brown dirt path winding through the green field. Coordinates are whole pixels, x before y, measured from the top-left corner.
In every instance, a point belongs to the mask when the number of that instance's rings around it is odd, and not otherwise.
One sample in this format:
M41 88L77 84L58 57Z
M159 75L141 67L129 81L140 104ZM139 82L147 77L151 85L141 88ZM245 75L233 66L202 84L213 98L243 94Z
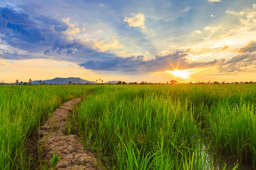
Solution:
M78 97L67 101L40 128L41 159L51 165L52 154L59 155L57 169L98 169L99 161L84 149L77 141L77 136L67 135L68 114L82 100L82 97Z

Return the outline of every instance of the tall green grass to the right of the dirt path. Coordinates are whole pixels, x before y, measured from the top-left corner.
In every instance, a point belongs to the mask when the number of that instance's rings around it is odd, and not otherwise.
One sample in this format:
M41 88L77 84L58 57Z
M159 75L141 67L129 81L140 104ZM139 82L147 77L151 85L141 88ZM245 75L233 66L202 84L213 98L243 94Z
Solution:
M76 120L108 168L212 169L255 165L255 104L256 85L106 85Z

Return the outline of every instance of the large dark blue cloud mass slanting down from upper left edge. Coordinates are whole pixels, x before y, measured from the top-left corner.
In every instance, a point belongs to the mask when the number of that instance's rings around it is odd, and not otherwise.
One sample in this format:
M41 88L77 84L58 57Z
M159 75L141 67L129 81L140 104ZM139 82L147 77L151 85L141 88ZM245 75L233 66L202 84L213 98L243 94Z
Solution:
M63 31L68 25L45 16L28 15L10 7L0 8L0 38L3 44L12 46L16 52L1 50L4 59L36 59L50 57L56 59L84 61L88 59L110 59L113 53L97 52L81 39L67 40ZM19 50L29 53L20 55ZM35 53L40 53L40 57ZM33 53L34 55L30 55ZM69 56L69 57L68 57Z

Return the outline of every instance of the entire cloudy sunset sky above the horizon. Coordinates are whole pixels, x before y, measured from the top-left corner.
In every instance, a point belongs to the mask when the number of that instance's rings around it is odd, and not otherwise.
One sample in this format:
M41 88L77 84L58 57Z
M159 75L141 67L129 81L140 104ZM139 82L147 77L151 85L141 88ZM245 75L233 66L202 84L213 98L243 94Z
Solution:
M256 81L255 0L1 0L0 81Z

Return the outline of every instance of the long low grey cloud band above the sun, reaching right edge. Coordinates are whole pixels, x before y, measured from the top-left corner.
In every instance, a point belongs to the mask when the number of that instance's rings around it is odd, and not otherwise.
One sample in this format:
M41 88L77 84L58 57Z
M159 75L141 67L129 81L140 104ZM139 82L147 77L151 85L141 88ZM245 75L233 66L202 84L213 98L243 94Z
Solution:
M191 69L196 67L218 66L221 73L232 73L237 71L250 71L248 67L256 64L255 53L243 53L232 57L230 60L220 59L209 62L190 62L187 60L187 52L175 52L169 55L159 56L154 59L145 60L143 56L138 57L114 57L108 60L89 60L80 64L86 69L108 70L121 72L146 73L154 71L166 71L168 69ZM255 65L256 66L256 65ZM250 67L252 69L252 67ZM255 69L255 67L253 67Z

